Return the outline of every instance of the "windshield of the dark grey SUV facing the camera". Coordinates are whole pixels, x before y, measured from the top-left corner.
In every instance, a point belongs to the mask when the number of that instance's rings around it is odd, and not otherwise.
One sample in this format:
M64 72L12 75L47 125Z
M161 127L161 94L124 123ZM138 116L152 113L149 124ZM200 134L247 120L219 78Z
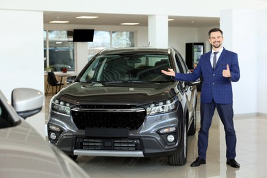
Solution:
M170 68L168 55L99 55L90 64L81 82L170 82L173 78L161 70Z

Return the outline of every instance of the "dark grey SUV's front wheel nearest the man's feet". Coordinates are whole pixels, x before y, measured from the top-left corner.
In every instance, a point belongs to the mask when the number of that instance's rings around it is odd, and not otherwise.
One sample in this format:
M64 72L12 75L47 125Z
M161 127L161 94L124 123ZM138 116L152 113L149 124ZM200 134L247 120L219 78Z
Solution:
M186 127L186 126L185 126ZM183 129L183 147L177 153L168 156L168 163L173 166L183 166L186 164L188 155L188 133Z

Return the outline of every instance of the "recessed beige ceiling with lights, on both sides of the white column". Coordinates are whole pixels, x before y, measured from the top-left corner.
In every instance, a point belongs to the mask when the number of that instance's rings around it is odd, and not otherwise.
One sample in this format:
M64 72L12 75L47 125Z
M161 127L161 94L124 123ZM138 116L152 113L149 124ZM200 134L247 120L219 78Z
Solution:
M94 19L75 18L77 16L99 16ZM220 25L218 17L168 16L169 27L212 27ZM140 23L138 26L148 26L147 15L135 14L96 14L77 12L44 12L44 23L49 21L69 21L73 25L120 25L120 23Z

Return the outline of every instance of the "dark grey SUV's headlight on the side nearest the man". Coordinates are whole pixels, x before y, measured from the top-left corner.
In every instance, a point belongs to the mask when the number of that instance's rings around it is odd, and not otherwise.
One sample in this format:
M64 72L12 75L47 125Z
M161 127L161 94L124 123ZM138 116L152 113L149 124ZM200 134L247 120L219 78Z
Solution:
M147 116L162 114L166 112L173 112L177 110L178 100L168 99L166 101L160 101L157 103L151 103L147 106Z

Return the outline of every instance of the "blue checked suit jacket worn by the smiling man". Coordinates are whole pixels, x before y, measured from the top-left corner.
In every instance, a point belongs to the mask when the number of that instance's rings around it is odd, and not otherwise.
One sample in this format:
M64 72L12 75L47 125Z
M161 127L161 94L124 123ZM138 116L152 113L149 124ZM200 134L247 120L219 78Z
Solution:
M240 79L238 54L223 49L216 64L216 68L213 70L210 62L211 53L212 51L209 51L208 53L201 55L199 64L194 68L193 73L176 73L175 79L195 81L202 75L201 103L211 103L212 99L218 104L233 103L231 81L238 81ZM223 70L227 69L227 64L229 64L231 78L223 77Z

